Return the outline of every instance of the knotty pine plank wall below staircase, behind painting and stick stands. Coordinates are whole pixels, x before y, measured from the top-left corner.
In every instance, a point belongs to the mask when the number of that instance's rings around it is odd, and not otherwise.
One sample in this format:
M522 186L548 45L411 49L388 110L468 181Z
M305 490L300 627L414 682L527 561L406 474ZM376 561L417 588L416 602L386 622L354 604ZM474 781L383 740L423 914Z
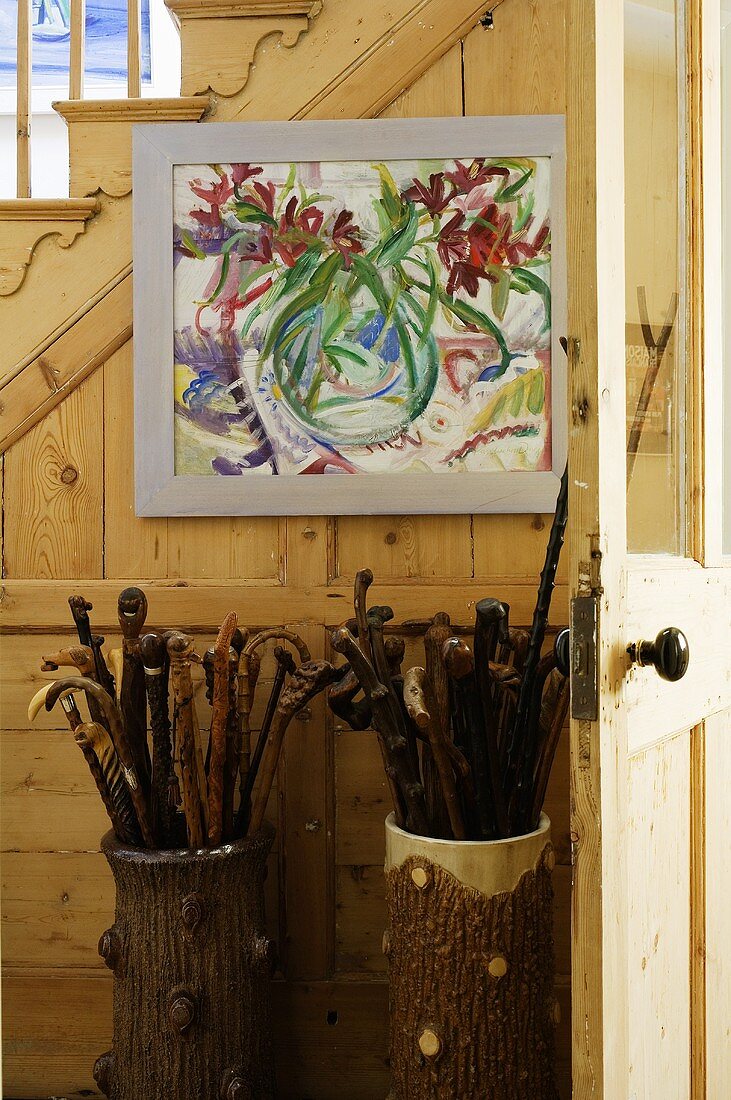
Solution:
M514 0L385 112L389 116L563 112L564 0ZM550 77L549 77L550 74ZM98 854L104 820L80 754L55 716L27 730L41 654L67 640L65 601L149 582L151 623L214 632L221 587L247 623L291 614L314 656L347 614L355 571L369 565L397 617L424 607L465 617L509 592L525 623L550 517L136 519L132 505L132 346L121 348L4 462L3 576L27 581L32 632L3 638L2 961L5 1097L97 1096L96 1056L110 1038L110 978L96 953L112 920ZM73 579L73 580L69 580ZM554 620L566 619L565 562ZM38 584L37 582L45 582ZM86 582L86 584L85 584ZM101 583L100 583L101 582ZM103 582L109 582L109 585ZM211 584L218 603L212 604ZM157 586L157 591L156 587ZM332 597L330 600L329 597ZM164 600L165 612L159 610ZM310 602L308 602L308 600ZM268 609L291 607L291 612ZM103 610L99 624L114 644ZM66 632L64 632L66 631ZM385 1096L387 992L383 820L387 792L373 738L315 706L287 747L277 800L269 915L283 959L276 988L284 1098ZM568 1098L568 761L562 745L547 812L557 844L556 947L562 1097Z

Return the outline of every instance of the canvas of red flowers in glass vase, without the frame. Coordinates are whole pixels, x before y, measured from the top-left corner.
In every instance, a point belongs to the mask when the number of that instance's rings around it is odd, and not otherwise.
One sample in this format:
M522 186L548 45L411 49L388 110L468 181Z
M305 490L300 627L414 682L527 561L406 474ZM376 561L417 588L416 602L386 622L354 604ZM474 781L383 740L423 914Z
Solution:
M547 158L177 165L177 474L551 469Z

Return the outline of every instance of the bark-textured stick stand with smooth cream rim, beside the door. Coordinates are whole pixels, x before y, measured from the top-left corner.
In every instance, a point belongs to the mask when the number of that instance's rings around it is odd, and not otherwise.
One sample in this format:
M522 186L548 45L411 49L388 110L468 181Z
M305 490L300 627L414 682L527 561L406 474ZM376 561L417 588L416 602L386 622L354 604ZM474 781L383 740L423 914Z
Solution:
M551 823L435 840L386 822L389 1100L557 1100Z

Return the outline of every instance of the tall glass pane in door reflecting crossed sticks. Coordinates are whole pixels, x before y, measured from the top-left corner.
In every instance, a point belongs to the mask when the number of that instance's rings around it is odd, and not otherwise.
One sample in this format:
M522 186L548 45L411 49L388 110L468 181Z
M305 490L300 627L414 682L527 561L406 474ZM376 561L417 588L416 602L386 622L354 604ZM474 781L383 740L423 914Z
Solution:
M684 554L683 0L624 2L628 548Z

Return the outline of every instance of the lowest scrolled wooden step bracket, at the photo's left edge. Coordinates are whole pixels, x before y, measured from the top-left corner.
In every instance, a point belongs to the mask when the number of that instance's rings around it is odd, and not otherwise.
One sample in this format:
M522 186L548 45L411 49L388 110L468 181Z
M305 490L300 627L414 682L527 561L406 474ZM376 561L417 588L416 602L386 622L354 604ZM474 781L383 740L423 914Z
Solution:
M0 201L0 295L13 294L25 278L44 237L67 249L99 210L96 199L7 199Z

